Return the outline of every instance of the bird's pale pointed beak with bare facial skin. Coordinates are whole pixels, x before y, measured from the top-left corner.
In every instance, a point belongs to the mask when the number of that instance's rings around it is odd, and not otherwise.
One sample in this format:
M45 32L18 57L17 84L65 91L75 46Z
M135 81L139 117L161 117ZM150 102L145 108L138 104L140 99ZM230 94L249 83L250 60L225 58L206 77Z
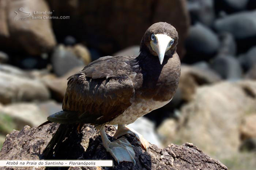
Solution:
M164 34L155 35L156 43L150 42L152 49L157 53L160 64L163 63L163 58L165 57L165 52L168 51L172 46L169 46L170 41L173 39Z

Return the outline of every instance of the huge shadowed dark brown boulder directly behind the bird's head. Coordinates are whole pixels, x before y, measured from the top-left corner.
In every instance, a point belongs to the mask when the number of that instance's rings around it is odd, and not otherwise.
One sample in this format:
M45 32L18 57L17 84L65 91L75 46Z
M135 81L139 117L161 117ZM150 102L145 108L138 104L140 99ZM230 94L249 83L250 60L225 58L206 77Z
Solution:
M159 21L177 29L178 54L182 57L185 52L183 44L189 28L186 0L148 0L147 3L142 0L127 3L119 0L47 1L56 16L70 16L69 20L53 20L58 37L64 39L72 32L77 41L85 40L88 47L104 55L140 44L146 29Z

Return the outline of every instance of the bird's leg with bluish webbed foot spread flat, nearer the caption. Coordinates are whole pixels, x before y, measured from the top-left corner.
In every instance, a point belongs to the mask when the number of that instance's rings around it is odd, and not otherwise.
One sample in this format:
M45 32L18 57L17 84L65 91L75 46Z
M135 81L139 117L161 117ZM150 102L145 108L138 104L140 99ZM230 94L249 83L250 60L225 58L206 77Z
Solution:
M133 165L136 164L134 159L135 152L133 151L131 143L127 141L127 139L120 138L116 141L110 142L105 133L104 127L99 132L101 133L103 146L112 155L118 164L122 161L132 162Z

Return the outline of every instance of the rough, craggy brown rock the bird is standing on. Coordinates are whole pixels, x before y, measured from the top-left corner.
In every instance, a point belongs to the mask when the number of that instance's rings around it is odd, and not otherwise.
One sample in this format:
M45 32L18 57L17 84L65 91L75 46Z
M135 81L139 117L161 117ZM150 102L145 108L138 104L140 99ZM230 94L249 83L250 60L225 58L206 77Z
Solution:
M3 148L0 152L0 159L40 159L40 154L47 143L52 138L58 125L55 123L48 124L40 128L30 128L25 126L21 131L12 131L7 135ZM108 137L112 140L116 129L113 126L106 126ZM113 167L70 167L69 170L75 169L158 169L158 170L177 170L177 169L223 169L227 167L221 162L211 159L200 151L192 143L185 143L182 146L171 144L165 149L158 149L152 145L148 151L142 150L140 142L131 136L125 135L133 145L135 151L136 165L131 162L121 162L119 165L114 161ZM111 155L106 152L102 145L101 137L91 125L85 125L82 133L72 135L71 139L63 142L65 149L56 154L56 159L112 159ZM2 169L14 169L14 167L1 167ZM15 167L15 169L17 169ZM27 169L33 169L28 167ZM34 168L36 169L36 168ZM38 169L45 169L39 167ZM65 167L67 169L67 167Z

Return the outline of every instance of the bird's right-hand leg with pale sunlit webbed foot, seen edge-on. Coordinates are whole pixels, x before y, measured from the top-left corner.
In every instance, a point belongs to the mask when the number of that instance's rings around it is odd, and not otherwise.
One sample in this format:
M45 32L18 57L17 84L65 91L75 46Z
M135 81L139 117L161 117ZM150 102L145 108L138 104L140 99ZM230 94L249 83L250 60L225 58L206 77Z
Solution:
M141 134L136 132L134 129L128 128L124 124L118 124L118 128L117 128L116 133L114 134L114 138L118 138L125 134L131 134L131 135L134 135L136 138L138 138L143 149L145 149L146 151L147 151L148 147L151 145L145 138L143 138L143 136Z

